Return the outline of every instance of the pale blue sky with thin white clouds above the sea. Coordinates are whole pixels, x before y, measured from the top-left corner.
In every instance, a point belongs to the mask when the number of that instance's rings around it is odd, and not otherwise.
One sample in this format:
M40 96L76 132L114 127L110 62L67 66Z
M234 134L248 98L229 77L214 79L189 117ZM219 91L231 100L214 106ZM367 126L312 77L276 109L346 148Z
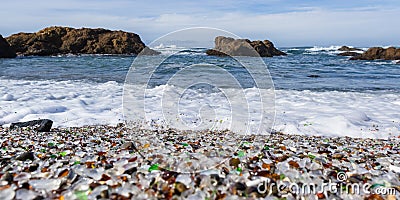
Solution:
M399 0L3 0L0 34L48 26L107 28L145 43L190 27L213 27L276 46L400 44Z

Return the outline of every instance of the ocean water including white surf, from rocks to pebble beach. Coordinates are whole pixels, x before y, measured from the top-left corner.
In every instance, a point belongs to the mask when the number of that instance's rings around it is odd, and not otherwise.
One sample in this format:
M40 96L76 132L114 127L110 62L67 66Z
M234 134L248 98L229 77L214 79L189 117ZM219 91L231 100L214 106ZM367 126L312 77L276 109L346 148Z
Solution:
M395 61L350 61L336 55L338 48L281 48L288 56L262 58L275 88L273 130L326 136L399 136L400 65ZM177 72L199 62L228 71L247 93L254 89L251 76L230 58L207 56L203 48L158 50L164 55L180 53L163 62L148 82L154 97L150 104L159 101L163 91L176 89L168 80ZM53 119L54 125L61 127L123 122L123 84L134 59L112 55L1 59L0 125L37 118ZM257 64L251 58L248 62ZM197 100L203 95L201 90L212 90L207 86L190 89L189 96ZM195 105L183 103L181 112L187 113L186 121L198 122L197 109L203 103L221 106L222 115L229 110L218 95L204 99ZM148 109L156 118L156 108ZM220 126L223 129L224 123Z

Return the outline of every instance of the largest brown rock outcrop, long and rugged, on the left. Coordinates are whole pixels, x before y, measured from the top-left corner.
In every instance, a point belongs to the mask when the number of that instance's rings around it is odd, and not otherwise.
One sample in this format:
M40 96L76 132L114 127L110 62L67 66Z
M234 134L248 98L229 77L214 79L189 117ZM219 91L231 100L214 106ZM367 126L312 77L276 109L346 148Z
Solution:
M49 27L6 38L20 55L139 54L146 46L139 35L97 28ZM147 54L157 54L156 51Z

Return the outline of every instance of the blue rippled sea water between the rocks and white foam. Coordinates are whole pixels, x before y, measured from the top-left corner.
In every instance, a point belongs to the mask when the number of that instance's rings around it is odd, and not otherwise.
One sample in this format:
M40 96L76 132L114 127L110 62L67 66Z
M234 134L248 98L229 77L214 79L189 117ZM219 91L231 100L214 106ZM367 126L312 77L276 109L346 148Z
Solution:
M263 58L276 89L311 91L400 91L400 65L394 61L352 61L337 56L333 47L280 48L288 56ZM220 63L234 75L242 74L230 58L207 56L206 49L191 49L174 57L175 65L191 60ZM0 77L14 80L82 80L105 83L123 83L134 56L66 55L57 57L19 57L0 60ZM228 64L227 64L228 63ZM190 64L190 63L189 63ZM183 66L183 65L182 65ZM180 69L182 66L173 66ZM176 70L164 70L168 77ZM165 80L164 80L165 81Z

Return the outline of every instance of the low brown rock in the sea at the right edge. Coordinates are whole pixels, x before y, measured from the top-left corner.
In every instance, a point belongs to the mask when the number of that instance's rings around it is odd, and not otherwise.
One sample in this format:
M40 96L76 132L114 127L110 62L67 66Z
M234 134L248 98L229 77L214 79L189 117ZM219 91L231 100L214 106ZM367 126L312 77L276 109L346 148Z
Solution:
M400 48L372 47L361 55L354 56L350 60L400 60Z

